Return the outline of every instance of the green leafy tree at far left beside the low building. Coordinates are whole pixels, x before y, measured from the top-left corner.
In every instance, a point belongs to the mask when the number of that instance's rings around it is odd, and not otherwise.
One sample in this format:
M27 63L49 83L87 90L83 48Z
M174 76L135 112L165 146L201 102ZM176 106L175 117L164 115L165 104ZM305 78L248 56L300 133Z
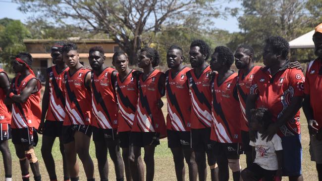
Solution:
M18 52L25 51L23 39L30 36L30 32L19 20L5 18L0 24L0 62L8 65Z

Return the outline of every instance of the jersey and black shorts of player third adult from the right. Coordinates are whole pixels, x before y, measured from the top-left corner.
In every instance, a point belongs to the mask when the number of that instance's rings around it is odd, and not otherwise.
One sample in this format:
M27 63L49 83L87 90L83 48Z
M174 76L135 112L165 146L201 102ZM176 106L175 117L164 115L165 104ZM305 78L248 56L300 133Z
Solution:
M249 95L249 91L252 85L252 81L254 78L255 73L261 68L261 66L254 66L252 70L247 74L244 75L243 71L238 71L237 76L237 92L238 98L240 103L240 108L242 112L242 117L240 119L240 129L241 129L241 136L242 136L242 143L243 143L243 151L252 151L252 147L249 145L249 124L246 117L246 99L247 95Z

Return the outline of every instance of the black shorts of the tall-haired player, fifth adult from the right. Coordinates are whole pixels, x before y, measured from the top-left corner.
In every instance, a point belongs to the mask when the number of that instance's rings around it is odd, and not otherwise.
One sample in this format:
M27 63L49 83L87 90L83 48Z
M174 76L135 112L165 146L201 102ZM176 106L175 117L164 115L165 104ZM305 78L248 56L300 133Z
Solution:
M211 128L191 129L191 144L194 151L212 153L213 144L210 139Z

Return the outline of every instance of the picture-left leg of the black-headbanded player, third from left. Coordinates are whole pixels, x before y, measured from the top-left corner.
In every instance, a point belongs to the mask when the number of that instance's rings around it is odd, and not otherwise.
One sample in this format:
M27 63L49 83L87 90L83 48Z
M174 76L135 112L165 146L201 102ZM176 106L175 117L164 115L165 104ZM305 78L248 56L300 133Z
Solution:
M56 137L43 135L41 152L51 181L56 181L55 163L52 148Z

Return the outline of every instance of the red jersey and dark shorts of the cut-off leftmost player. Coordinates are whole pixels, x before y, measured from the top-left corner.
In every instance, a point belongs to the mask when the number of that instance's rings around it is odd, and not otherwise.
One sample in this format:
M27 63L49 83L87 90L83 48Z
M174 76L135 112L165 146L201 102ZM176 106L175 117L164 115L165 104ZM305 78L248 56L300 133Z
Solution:
M3 69L0 69L0 73L4 73L7 76ZM11 138L11 113L4 104L4 99L5 92L0 88L0 142Z

